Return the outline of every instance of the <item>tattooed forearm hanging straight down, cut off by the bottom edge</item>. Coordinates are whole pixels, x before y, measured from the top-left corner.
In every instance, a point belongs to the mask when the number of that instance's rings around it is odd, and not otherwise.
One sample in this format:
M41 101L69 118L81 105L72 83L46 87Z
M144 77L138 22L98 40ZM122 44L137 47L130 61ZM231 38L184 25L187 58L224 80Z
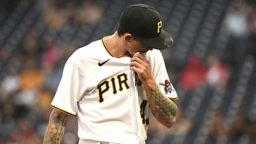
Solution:
M43 144L60 144L66 128L68 114L53 109L46 133L44 135Z

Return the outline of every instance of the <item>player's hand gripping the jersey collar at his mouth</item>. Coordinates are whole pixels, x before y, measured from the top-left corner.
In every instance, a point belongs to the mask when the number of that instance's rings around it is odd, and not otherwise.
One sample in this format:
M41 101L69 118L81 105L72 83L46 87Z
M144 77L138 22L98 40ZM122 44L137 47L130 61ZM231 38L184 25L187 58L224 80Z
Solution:
M130 69L137 72L138 78L144 86L146 84L155 83L150 63L142 54L134 54L131 58Z

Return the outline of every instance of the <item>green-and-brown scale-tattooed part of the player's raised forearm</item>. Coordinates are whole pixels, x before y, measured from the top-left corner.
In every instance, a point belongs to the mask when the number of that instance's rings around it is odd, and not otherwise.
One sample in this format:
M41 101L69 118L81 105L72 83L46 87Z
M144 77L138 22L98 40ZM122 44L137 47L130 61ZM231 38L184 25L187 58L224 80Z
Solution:
M170 128L176 120L176 104L164 96L157 85L154 88L148 89L146 92L152 114L158 122Z

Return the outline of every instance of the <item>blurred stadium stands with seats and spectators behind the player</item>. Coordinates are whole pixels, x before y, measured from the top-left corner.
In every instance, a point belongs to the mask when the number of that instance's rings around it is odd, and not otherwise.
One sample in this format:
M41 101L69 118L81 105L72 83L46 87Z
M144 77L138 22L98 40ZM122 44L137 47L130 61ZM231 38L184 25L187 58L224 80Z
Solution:
M256 143L255 0L1 0L0 144L42 144L68 57L112 35L126 6L155 7L176 124L151 115L147 144ZM70 117L62 144L78 144Z

